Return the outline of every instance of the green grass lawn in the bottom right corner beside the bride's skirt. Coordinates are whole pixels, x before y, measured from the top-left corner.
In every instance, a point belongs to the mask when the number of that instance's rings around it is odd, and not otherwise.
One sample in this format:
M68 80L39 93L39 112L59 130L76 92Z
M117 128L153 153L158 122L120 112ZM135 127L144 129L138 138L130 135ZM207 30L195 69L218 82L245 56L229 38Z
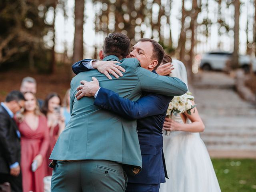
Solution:
M256 160L212 159L222 192L256 192Z

